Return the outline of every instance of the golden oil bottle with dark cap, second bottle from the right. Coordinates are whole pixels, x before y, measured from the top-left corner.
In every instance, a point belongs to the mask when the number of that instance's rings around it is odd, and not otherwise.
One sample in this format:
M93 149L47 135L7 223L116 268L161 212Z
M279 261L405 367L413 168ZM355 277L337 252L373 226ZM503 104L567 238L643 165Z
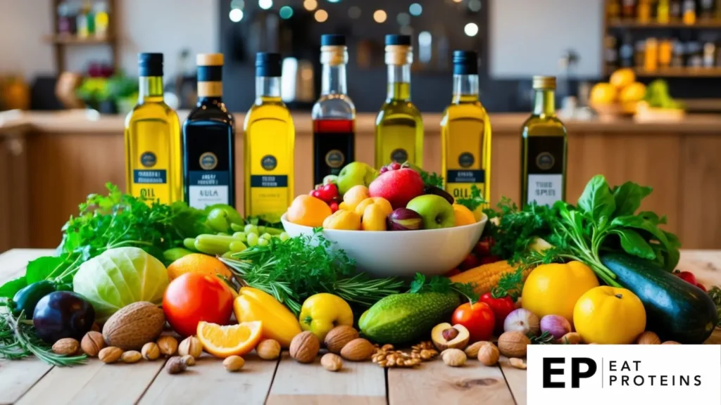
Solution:
M468 198L477 186L490 201L491 124L478 99L478 55L453 54L453 100L441 120L441 172L446 191Z

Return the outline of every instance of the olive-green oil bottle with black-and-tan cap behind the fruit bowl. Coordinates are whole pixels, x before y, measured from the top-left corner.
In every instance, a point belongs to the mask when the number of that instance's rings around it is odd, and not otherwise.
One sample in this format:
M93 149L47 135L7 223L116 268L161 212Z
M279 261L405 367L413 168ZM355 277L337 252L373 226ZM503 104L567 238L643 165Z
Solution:
M388 97L376 117L376 169L393 161L423 167L423 118L410 101L410 36L386 35Z

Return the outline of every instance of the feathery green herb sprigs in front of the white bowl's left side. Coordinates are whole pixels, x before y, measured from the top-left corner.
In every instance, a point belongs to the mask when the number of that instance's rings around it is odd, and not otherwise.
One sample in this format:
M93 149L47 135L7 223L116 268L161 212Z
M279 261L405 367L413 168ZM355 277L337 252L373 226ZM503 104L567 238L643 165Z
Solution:
M320 228L312 236L286 241L274 238L267 246L253 246L221 258L242 285L263 290L300 313L301 303L316 293L333 293L349 303L369 307L386 295L399 293L403 282L395 278L371 279L355 270L355 262L330 249Z

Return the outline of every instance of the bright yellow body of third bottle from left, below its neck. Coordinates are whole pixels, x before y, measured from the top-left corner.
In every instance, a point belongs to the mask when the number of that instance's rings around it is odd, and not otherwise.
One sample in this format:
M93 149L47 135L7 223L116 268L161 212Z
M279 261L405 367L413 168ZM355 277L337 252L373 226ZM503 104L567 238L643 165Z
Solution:
M293 143L286 125L277 120L260 120L246 132L249 136L250 166L247 216L278 222L291 203L293 184Z

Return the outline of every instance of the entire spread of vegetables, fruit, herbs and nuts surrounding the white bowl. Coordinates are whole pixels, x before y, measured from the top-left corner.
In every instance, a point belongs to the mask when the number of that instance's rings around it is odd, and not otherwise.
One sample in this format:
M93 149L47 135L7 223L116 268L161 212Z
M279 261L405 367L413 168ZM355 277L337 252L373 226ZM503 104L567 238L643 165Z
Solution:
M665 217L640 211L651 189L632 182L596 176L576 205L523 208L487 208L474 187L456 200L490 218L473 252L446 277L410 282L358 271L321 228L291 237L228 205L162 205L107 187L63 227L56 255L0 286L0 358L185 356L167 363L177 373L204 350L232 371L251 350L311 362L324 344L337 357L324 357L329 370L341 358L412 367L439 352L452 366L494 365L500 353L525 368L528 344L701 343L721 313L719 288L676 270L681 244ZM166 322L182 342L162 335ZM398 344L415 346L389 348Z

